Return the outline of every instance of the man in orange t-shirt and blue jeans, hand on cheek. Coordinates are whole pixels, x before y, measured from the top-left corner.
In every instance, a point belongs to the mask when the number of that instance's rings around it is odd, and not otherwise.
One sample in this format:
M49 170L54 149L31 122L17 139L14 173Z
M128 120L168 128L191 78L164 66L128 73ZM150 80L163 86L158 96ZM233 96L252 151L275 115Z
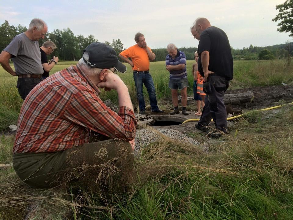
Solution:
M147 92L149 93L152 112L163 113L164 111L160 110L157 105L154 81L149 72L150 60L154 60L156 55L147 46L143 34L139 32L136 33L134 40L136 44L122 51L119 54L119 57L121 60L132 66L133 79L138 97L139 114L146 113L146 105L143 97L143 84L146 86ZM131 60L129 58L131 58Z

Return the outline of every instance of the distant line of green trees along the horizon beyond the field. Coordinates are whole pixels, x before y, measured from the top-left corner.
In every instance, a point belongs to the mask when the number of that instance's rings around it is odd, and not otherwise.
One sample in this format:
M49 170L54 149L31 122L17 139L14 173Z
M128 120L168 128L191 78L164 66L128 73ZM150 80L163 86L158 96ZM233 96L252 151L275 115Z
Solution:
M22 25L14 27L10 25L7 20L0 25L0 51L2 51L17 34L26 31L27 28ZM45 35L45 39L39 40L39 45L51 40L57 46L50 56L58 56L59 60L78 60L82 57L82 52L86 46L92 42L98 42L94 35L87 37L83 35L74 35L70 28L64 28L63 30L56 29L52 32L48 32ZM117 55L125 50L123 43L120 39L113 39L112 43L105 41L106 44L112 46ZM233 49L231 47L232 56L234 60L257 60L257 59L284 59L292 56L291 48L293 48L293 42L287 42L286 44L279 44L274 46L258 47L252 46L243 49ZM186 60L194 60L194 52L197 51L196 47L181 47L178 50L183 51L186 55ZM164 61L168 52L166 48L152 49L156 54L154 61Z

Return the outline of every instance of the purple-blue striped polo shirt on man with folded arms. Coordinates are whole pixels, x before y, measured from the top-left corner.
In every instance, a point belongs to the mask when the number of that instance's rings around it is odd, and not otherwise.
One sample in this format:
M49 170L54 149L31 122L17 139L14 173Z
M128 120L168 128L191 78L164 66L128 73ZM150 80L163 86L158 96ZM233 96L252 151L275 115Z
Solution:
M166 66L167 65L178 65L185 64L185 67L181 70L170 70L170 79L182 79L187 78L187 70L186 70L186 57L185 53L177 50L177 55L173 59L170 54L166 57Z

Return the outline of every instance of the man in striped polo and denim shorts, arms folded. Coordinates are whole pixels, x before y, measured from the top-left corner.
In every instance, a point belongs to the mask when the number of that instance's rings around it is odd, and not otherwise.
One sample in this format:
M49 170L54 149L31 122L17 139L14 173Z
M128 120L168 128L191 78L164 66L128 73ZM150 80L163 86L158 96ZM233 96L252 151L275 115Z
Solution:
M177 50L176 46L172 43L168 44L167 51L169 54L166 57L166 69L170 72L169 88L172 90L172 102L174 105L174 111L170 112L170 114L179 114L177 89L180 89L182 104L181 113L183 115L188 115L186 111L188 87L186 57L185 54Z

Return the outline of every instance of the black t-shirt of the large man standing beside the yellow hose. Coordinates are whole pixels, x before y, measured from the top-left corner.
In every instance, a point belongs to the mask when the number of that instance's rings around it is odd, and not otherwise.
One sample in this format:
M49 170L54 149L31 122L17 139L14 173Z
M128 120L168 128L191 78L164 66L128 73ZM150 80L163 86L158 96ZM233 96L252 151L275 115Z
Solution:
M216 75L224 76L227 80L233 79L233 57L226 33L217 27L209 27L201 33L198 44L198 71L204 76L201 65L201 53L210 53L208 70Z

